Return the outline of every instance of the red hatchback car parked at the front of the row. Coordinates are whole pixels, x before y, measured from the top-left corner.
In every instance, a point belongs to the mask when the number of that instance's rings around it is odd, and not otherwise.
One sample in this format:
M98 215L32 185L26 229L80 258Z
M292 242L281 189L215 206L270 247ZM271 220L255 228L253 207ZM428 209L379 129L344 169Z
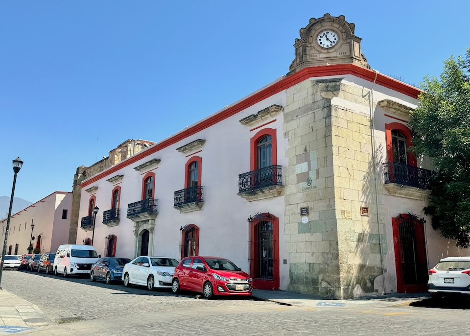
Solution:
M234 263L218 257L183 258L175 268L171 290L202 292L205 298L213 295L251 295L253 279Z

